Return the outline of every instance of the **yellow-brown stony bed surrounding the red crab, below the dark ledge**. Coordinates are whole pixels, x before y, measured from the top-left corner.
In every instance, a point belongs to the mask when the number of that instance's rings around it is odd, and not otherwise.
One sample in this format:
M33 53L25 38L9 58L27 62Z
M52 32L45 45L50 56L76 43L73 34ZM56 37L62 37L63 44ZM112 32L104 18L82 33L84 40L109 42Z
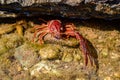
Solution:
M89 63L86 68L84 55L74 38L55 40L46 35L45 44L32 42L33 27L38 24L32 20L1 22L0 80L120 79L119 20L73 21L77 30L91 43L88 43L91 53L97 55L94 55L97 64L90 66Z

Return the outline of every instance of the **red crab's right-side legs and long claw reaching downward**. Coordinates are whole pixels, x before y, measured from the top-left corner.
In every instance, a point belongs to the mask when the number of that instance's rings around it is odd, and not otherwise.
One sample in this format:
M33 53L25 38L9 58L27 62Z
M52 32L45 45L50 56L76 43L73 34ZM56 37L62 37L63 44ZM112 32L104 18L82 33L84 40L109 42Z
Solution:
M80 49L85 55L85 66L88 64L88 58L90 59L91 65L93 65L93 59L90 55L88 44L86 39L76 30L76 27L73 23L65 25L63 28L64 32L63 35L65 35L67 38L69 37L75 37L77 40L79 40L80 43Z

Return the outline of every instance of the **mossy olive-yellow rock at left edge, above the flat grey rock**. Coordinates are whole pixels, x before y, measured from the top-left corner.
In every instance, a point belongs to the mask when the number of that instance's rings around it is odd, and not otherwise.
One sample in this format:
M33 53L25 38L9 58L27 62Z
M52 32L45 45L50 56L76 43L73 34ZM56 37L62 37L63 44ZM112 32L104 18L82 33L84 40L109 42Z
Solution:
M23 43L23 38L17 34L2 35L0 39L0 55Z

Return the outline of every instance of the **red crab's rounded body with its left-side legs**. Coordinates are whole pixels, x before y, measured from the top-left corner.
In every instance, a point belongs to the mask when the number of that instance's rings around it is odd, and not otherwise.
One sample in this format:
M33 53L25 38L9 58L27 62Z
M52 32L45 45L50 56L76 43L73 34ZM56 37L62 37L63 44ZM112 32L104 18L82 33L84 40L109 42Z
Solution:
M51 34L55 38L60 38L61 21L51 20L47 22L47 24L37 25L34 28L35 28L34 38L39 36L40 44L42 44L44 43L43 37L47 34Z

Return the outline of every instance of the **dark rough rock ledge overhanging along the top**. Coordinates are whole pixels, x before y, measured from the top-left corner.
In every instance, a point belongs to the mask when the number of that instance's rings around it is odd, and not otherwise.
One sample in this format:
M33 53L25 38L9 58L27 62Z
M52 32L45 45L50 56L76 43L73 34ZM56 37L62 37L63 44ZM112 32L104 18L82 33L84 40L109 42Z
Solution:
M0 0L0 17L120 18L120 0Z

